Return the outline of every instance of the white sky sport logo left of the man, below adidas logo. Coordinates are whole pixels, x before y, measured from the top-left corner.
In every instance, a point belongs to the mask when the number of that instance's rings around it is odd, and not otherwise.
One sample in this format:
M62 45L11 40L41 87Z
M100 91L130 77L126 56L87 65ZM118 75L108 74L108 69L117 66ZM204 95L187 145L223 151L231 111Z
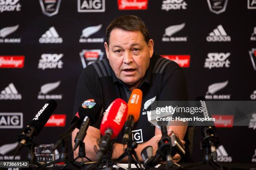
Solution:
M38 63L38 69L45 70L63 67L63 62L60 60L63 54L42 54Z

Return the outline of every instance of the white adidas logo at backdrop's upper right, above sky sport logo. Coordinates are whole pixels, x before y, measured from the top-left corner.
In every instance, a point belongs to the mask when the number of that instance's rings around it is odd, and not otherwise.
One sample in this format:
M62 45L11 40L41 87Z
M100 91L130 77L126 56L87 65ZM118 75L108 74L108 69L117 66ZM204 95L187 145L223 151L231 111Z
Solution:
M212 32L210 32L209 36L206 37L208 42L226 42L231 41L231 37L227 35L222 25L218 25Z

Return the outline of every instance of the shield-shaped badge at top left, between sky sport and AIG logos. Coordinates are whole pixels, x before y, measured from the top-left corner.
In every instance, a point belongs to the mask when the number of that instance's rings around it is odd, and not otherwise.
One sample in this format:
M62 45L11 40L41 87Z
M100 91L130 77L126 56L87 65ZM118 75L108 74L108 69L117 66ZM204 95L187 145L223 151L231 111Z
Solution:
M61 0L39 0L43 14L49 17L59 12Z

